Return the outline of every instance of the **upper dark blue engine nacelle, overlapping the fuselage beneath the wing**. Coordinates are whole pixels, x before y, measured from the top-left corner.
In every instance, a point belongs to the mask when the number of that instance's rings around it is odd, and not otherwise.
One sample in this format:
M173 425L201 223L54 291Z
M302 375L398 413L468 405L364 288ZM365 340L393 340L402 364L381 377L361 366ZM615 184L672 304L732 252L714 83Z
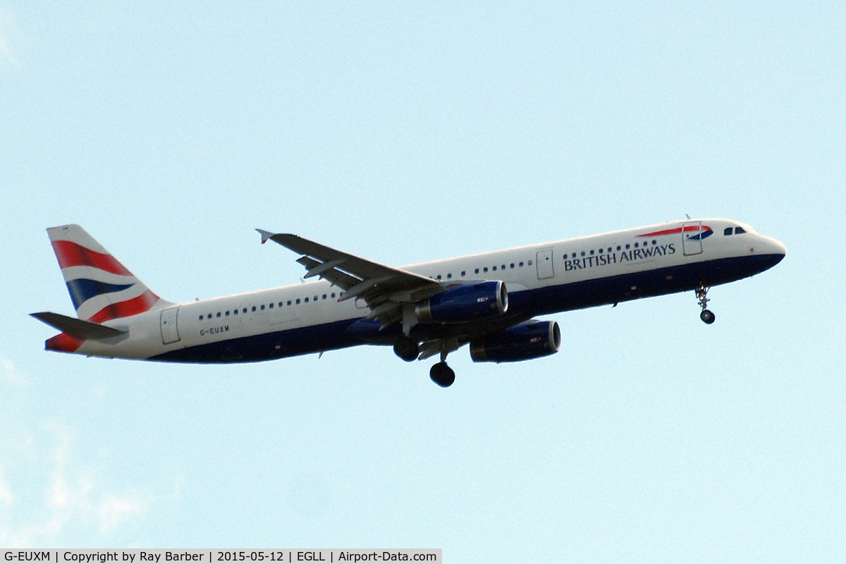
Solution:
M508 290L501 281L452 287L415 306L420 323L464 323L508 311Z

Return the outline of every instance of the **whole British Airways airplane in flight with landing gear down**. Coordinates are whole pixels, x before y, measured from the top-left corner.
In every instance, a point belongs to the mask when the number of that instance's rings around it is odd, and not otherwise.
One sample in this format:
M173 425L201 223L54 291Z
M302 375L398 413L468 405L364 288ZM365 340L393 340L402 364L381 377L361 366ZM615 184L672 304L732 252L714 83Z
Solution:
M555 320L573 309L693 291L776 266L783 244L727 219L686 219L396 268L290 233L257 229L300 255L299 284L176 304L160 298L78 225L47 229L76 317L31 314L59 331L46 350L182 363L281 359L355 345L400 359L439 355L431 380L466 344L475 362L536 359L561 348ZM305 279L317 278L315 282Z

